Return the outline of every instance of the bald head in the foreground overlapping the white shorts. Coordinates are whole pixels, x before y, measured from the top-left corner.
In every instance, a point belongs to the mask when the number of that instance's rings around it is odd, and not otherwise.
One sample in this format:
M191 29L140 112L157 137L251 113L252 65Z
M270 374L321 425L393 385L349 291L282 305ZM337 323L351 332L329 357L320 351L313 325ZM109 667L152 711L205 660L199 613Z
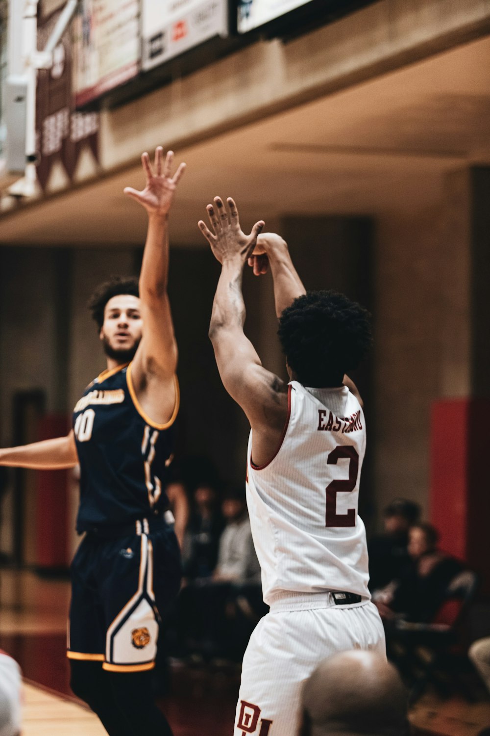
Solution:
M407 693L379 654L346 651L306 680L298 736L406 736Z

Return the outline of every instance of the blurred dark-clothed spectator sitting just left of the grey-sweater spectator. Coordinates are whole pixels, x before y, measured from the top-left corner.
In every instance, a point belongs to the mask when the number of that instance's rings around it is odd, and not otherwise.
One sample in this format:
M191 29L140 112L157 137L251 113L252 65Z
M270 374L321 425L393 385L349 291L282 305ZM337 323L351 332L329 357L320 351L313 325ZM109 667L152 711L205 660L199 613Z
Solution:
M184 543L184 577L209 578L215 570L224 520L215 486L198 484Z

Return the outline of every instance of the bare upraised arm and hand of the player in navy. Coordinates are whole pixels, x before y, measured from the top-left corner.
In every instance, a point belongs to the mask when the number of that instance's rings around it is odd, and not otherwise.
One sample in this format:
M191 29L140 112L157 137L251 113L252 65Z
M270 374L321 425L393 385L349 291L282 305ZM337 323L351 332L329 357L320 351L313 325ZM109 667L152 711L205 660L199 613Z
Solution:
M171 178L173 152L167 153L164 165L161 146L155 152L154 168L148 153L143 153L141 160L146 175L145 188L137 191L126 187L124 192L140 202L148 213L148 233L140 274L143 339L132 367L134 383L143 384L148 375L157 375L164 380L173 378L177 367L177 344L167 295L168 215L185 164L181 163Z

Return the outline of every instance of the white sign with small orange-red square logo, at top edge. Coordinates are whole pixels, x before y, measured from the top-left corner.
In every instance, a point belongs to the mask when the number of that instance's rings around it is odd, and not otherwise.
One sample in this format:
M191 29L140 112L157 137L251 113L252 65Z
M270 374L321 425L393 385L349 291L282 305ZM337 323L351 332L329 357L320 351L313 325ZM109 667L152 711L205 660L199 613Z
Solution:
M143 0L143 69L228 35L228 0Z

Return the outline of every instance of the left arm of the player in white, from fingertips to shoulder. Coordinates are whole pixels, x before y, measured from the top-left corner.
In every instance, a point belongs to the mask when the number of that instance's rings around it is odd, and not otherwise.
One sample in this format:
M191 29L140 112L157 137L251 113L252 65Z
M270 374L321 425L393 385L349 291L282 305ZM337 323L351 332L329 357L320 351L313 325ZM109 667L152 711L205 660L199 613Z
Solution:
M262 367L253 344L245 336L245 304L242 275L245 263L264 226L257 222L251 235L239 226L237 205L228 199L229 214L220 197L208 205L212 229L201 220L199 227L208 240L221 275L212 308L209 337L215 349L217 367L228 393L242 407L256 431L281 428L287 416L287 389L278 376Z

